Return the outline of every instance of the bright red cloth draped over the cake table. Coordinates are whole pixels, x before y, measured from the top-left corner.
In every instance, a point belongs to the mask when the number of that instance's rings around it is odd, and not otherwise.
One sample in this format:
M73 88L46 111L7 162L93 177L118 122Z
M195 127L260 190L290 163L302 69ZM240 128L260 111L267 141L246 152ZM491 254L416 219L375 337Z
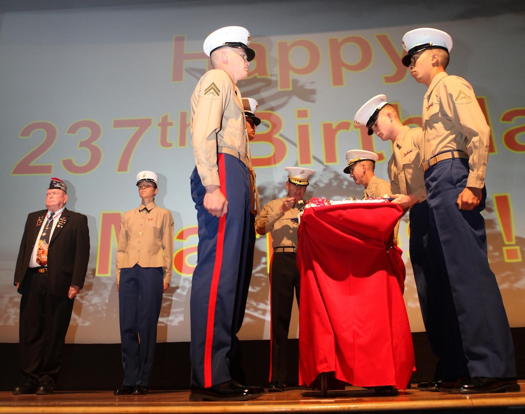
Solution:
M392 203L305 209L297 265L299 384L321 372L354 386L405 389L414 370L401 250L392 246L402 210Z

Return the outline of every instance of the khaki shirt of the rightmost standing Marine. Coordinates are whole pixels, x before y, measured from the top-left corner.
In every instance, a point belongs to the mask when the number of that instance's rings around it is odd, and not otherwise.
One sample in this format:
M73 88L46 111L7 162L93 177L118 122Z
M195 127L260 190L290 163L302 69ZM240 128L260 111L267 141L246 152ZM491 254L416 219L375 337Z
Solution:
M445 72L434 76L423 99L423 152L461 150L469 155L467 187L482 188L489 154L490 128L470 84Z

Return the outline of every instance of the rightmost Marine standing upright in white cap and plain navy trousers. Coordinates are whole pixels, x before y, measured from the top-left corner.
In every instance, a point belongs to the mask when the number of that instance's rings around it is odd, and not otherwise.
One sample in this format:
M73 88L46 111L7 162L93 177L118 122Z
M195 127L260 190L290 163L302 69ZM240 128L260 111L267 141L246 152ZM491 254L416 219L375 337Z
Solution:
M439 315L444 382L458 394L519 391L514 348L496 277L487 258L485 170L490 129L470 84L449 76L452 38L419 28L403 36L403 64L427 86L423 99L423 170L429 248L443 264L428 289Z

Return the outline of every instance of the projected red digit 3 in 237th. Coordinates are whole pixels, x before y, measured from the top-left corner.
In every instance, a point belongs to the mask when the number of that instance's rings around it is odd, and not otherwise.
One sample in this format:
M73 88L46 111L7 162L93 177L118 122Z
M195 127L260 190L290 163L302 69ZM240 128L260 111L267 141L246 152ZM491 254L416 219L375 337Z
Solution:
M76 134L80 129L86 128L89 135L86 139L78 141L77 148L85 148L89 152L89 157L86 163L77 164L73 158L62 158L62 167L71 174L87 174L95 170L100 161L102 161L102 151L98 145L95 144L102 135L102 127L96 121L83 119L72 123L66 130L69 135Z

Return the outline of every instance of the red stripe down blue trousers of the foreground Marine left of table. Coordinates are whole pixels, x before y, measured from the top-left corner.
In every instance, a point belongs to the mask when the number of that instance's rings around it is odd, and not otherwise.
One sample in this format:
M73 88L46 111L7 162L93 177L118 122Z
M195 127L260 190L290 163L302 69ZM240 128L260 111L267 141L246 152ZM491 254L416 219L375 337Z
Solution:
M217 163L219 171L220 189L226 194L226 170L224 164L224 154L217 154ZM204 346L204 387L211 387L212 384L212 350L213 350L213 333L215 326L215 306L217 304L217 290L219 287L220 269L223 261L224 249L224 229L226 227L226 214L219 218L219 227L217 233L217 245L215 247L215 265L213 266L212 285L209 289L208 302L208 319L206 324L206 343Z

